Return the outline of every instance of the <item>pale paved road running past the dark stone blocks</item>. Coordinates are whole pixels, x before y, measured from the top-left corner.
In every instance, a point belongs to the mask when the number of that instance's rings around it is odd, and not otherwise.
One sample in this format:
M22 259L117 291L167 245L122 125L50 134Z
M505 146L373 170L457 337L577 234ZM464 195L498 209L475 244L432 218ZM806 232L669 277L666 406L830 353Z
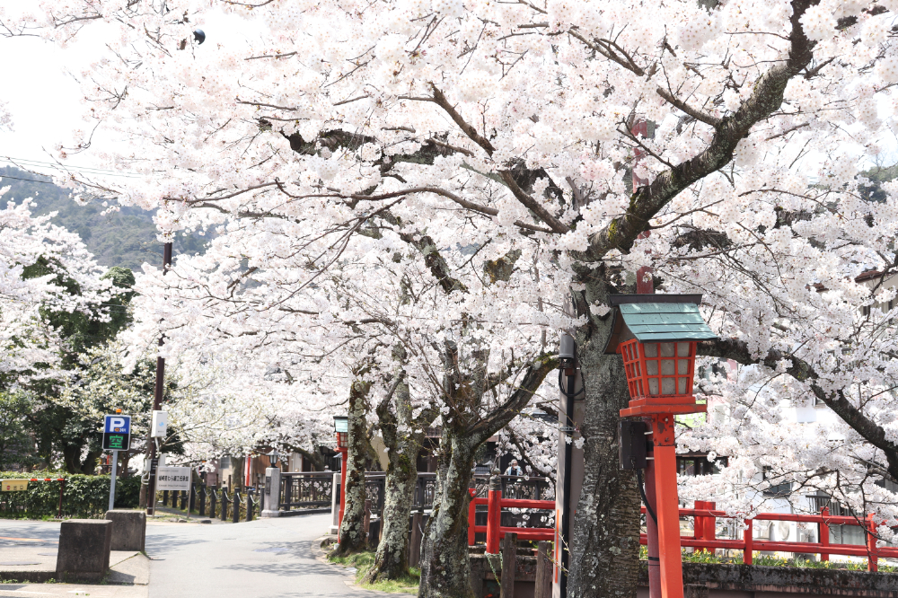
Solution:
M353 576L316 559L330 514L260 519L249 523L149 523L149 598L296 598L381 593L347 585ZM0 546L56 550L59 523L0 519ZM4 587L5 586L5 587ZM0 585L0 596L77 595L74 585ZM81 586L92 596L138 598L146 586Z

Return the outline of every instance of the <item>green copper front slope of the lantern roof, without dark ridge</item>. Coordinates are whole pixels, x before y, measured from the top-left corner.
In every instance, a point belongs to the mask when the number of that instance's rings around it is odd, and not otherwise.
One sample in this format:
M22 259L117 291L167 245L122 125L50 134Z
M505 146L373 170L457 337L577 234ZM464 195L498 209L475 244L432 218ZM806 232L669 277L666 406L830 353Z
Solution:
M624 303L621 316L640 343L652 340L710 340L718 335L692 303Z

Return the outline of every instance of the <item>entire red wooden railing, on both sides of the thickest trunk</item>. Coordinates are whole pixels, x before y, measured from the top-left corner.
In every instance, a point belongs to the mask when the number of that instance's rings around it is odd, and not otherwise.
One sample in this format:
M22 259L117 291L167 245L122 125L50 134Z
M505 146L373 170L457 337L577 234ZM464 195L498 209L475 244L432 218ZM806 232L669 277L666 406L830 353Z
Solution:
M475 525L474 513L478 505L488 506L487 524ZM730 549L742 550L743 562L752 564L752 556L755 550L770 550L776 552L798 552L801 554L819 554L821 560L829 560L831 555L847 557L866 557L867 570L876 571L879 558L898 558L898 548L876 546L876 523L872 515L864 519L856 517L831 515L829 509L823 507L820 514L792 514L792 513L759 513L752 519L745 520L743 537L738 540L725 540L717 538L718 517L735 518L736 515L726 514L726 511L715 510L715 504L709 501L695 501L695 508L680 509L681 517L693 517L693 532L691 536L681 536L680 545L693 547L696 550ZM471 489L471 504L468 506L468 545L474 545L474 534L486 532L487 552L497 554L499 539L505 537L508 532L517 534L520 540L530 541L554 541L555 530L536 527L503 527L501 525L501 513L503 508L519 509L546 509L554 510L554 500L524 500L519 498L503 498L501 490L490 490L486 498L474 497ZM646 513L646 507L642 507ZM796 523L817 523L820 525L820 537L815 542L770 541L753 537L753 523L755 521L789 521ZM857 544L831 544L829 525L858 525L867 532L867 542L860 546ZM639 542L647 543L646 534L640 534Z

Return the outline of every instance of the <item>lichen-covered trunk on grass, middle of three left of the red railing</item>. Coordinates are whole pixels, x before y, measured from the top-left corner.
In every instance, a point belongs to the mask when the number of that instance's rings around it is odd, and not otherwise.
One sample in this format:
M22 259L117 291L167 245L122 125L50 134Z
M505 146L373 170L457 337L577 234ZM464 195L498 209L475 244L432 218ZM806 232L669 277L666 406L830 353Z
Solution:
M409 575L409 512L418 483L419 434L411 432L409 386L399 383L393 393L395 413L389 402L377 408L383 444L389 449L390 464L386 476L386 501L383 505L383 535L377 545L374 567L365 576L367 583L399 579Z

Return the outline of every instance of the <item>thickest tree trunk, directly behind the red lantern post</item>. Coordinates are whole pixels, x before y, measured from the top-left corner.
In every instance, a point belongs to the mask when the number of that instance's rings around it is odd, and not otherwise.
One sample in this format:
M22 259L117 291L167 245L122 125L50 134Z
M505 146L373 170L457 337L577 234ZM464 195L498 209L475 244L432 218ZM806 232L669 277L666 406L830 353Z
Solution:
M589 304L607 303L610 289L603 273L594 270L581 279L586 290L578 297L578 312ZM619 411L627 407L629 392L621 356L603 354L610 331L611 318L594 316L577 331L585 383L585 467L571 534L570 598L636 596L639 492L634 472L618 467Z

